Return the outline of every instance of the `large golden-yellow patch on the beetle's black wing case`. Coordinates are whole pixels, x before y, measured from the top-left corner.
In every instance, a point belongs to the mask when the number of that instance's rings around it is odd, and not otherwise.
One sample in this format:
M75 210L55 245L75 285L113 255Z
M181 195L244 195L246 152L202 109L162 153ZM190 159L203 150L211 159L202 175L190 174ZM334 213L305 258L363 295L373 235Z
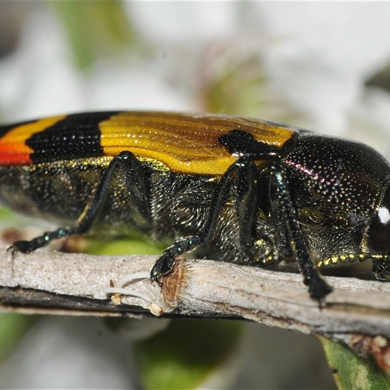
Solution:
M99 129L107 156L127 150L160 161L174 172L220 176L238 156L232 156L218 137L243 130L281 148L294 134L292 129L249 117L161 112L123 112L99 123Z

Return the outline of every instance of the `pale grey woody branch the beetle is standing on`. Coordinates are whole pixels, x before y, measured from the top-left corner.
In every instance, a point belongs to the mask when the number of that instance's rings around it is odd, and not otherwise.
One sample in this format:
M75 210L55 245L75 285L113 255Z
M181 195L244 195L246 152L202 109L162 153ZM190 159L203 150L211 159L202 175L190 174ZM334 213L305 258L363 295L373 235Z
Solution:
M334 291L320 308L302 276L212 260L176 261L162 285L147 275L156 256L92 256L0 249L1 311L69 315L237 318L349 342L390 335L390 283L327 276ZM118 293L131 289L138 296ZM146 299L142 298L146 297Z

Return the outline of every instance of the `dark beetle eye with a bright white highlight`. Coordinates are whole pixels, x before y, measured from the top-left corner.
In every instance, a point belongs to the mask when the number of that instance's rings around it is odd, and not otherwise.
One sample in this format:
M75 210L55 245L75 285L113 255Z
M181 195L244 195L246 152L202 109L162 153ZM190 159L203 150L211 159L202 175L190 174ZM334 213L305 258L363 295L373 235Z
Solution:
M368 244L377 253L390 253L390 187L371 220Z

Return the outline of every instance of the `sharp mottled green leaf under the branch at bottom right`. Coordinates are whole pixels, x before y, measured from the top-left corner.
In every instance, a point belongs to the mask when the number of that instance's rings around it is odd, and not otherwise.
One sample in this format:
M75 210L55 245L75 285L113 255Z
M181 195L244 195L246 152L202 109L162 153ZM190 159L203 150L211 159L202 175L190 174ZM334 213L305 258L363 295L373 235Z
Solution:
M345 344L318 336L334 380L340 390L385 390L390 389L390 380L370 356L358 356Z

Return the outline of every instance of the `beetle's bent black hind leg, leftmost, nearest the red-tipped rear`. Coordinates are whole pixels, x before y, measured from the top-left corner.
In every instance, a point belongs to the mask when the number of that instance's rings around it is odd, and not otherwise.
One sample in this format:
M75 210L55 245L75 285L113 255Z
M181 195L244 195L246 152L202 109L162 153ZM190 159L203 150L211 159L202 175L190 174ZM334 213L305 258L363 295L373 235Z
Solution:
M91 229L101 207L107 199L110 183L118 168L121 169L124 175L126 187L129 192L132 193L133 201L139 214L142 215L144 219L148 219L150 209L147 201L147 188L144 185L145 180L143 177L144 175L141 172L140 163L132 153L124 151L115 156L105 169L95 191L95 195L79 217L77 226L62 227L52 232L45 232L30 241L16 241L11 245L10 249L22 253L30 253L38 248L46 246L54 239L67 237L73 234L87 233Z

